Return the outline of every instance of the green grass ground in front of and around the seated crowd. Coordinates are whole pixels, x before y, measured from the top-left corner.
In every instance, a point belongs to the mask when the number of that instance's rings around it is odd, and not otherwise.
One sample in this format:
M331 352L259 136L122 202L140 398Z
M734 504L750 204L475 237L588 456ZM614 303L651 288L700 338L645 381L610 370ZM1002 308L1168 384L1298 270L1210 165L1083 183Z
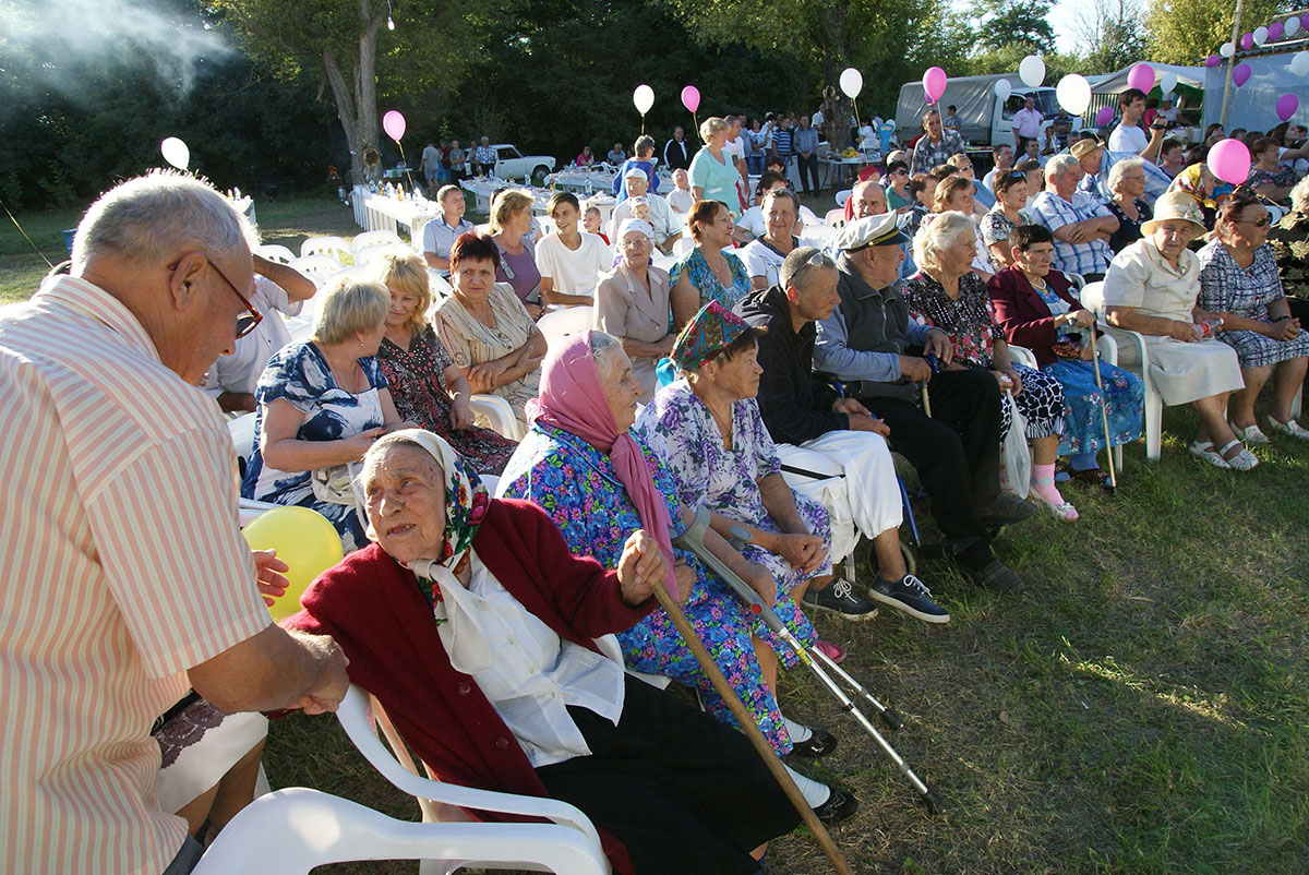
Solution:
M259 202L258 212L264 240L296 250L308 234L357 232L326 198ZM54 251L76 216L20 220ZM0 233L5 300L29 295L45 270L14 238L12 225ZM1005 533L997 550L1024 593L978 591L953 567L923 563L949 626L886 609L867 624L818 618L850 648L846 668L905 715L888 737L949 806L929 817L872 739L789 673L787 713L842 739L804 768L863 803L834 829L853 871L1309 871L1309 447L1278 438L1255 451L1263 465L1238 474L1186 453L1190 410L1166 409L1164 427L1161 461L1127 448L1117 498L1068 487L1080 521L1042 513ZM860 575L870 579L867 562ZM418 816L330 718L275 722L264 762L274 786ZM831 870L801 830L774 844L768 871Z

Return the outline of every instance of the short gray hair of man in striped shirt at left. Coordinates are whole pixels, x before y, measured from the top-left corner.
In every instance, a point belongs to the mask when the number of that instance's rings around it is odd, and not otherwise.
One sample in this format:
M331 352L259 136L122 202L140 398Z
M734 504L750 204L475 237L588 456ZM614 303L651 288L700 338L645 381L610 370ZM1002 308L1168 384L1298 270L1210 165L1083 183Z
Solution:
M177 170L152 170L110 189L86 211L73 237L72 272L81 275L97 255L145 263L199 249L249 259L258 245L250 221L213 186Z

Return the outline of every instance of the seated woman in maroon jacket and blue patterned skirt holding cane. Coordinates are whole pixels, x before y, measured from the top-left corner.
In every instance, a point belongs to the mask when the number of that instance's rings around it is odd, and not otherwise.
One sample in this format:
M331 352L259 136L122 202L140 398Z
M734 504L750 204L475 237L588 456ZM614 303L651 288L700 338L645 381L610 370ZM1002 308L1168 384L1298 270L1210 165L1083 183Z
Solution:
M1050 270L1055 251L1050 229L1018 225L1009 244L1013 266L987 283L995 321L1009 343L1031 350L1041 371L1063 386L1067 409L1059 453L1071 455L1072 479L1103 485L1096 453L1140 438L1145 388L1136 375L1097 362L1092 341L1083 342L1083 331L1093 331L1096 320L1072 296L1068 278Z

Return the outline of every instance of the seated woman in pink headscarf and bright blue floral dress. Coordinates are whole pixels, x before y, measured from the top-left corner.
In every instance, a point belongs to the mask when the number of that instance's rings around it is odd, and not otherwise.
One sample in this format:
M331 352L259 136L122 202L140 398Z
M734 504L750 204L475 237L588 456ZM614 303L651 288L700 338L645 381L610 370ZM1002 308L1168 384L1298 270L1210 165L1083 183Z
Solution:
M793 660L793 651L747 614L694 555L673 553L669 529L682 532L682 506L662 461L630 431L636 420L636 397L631 362L615 338L603 331L564 338L546 358L534 422L505 468L500 493L543 507L573 553L594 557L606 567L619 561L631 532L651 532L675 557L677 586L689 591L687 618L774 749L780 754L829 753L835 739L787 720L778 709L778 661ZM778 605L796 638L805 646L813 643L813 626L789 596L778 593L767 570L745 559L712 531L704 541L767 603ZM630 668L686 682L711 714L736 724L665 612L652 613L620 633L618 641ZM855 812L853 796L797 778L822 820L836 823Z

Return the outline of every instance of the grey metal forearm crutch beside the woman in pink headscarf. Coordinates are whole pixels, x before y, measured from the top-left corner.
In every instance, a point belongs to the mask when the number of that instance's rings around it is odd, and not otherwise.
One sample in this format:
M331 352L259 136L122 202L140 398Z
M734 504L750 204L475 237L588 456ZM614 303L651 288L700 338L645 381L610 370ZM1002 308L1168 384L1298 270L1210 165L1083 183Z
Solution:
M856 694L859 694L860 697L865 698L869 703L872 703L873 707L882 714L882 719L886 720L888 724L893 726L897 723L902 724L903 720L901 720L899 715L888 709L886 706L884 706L876 698L873 698L873 696L867 689L864 689L863 685L855 681L855 679L851 677L846 671L839 668L826 654L819 651L817 647L810 650L806 648L802 643L800 643L800 641L791 633L791 630L787 629L785 624L781 622L781 618L778 617L776 612L771 606L766 605L762 599L759 599L759 593L751 589L745 583L745 580L742 580L734 571L728 568L716 555L709 553L709 550L704 546L704 532L708 528L709 528L709 511L708 508L702 507L696 512L695 519L691 521L691 524L686 527L682 534L678 536L673 541L673 544L683 550L690 550L691 553L694 553L702 562L704 562L720 578L723 578L723 580L729 587L732 587L732 589L737 593L737 596L746 604L746 608L750 610L750 613L758 614L763 620L763 622L768 626L768 629L771 629L774 634L781 638L781 641L784 641L787 646L791 647L792 651L795 651L800 661L806 668L809 668L810 672L813 672L813 675L818 679L818 681L823 686L826 686L833 696L836 697L836 701L840 703L842 710L850 714L850 717L856 723L859 723L859 726L865 732L868 732L868 735L872 736L872 739L882 749L882 753L885 753L888 758L890 758L890 761L895 764L895 768L899 770L899 773L905 775L905 778L908 779L910 785L914 786L914 790L918 791L919 798L922 799L923 804L927 806L928 812L933 815L940 813L941 810L944 808L941 799L936 795L936 792L931 787L928 787L922 781L922 778L914 774L914 770L910 769L908 764L905 762L903 757L901 757L901 754L895 752L895 748L893 748L890 743L886 741L885 737L882 737L882 735L877 731L877 727L874 727L873 723L868 719L868 717L859 709L859 706L855 705L853 701L851 701L851 698L846 694L846 692L834 680L831 680L827 672L823 671L823 667L833 669L838 677L850 684L851 689ZM733 544L740 542L744 546L745 542L749 540L749 537L750 536L745 529L736 528L733 531ZM819 663L822 663L822 665L819 665Z

